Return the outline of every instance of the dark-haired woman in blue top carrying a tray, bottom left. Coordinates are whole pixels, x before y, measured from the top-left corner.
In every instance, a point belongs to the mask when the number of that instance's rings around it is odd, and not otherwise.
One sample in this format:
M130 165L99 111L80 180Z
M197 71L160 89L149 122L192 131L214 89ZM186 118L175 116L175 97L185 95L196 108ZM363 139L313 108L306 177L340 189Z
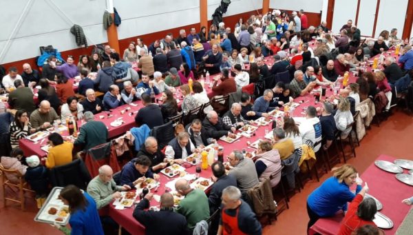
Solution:
M87 192L82 192L74 185L68 185L63 188L59 198L65 205L69 206L70 229L56 223L54 227L65 234L103 234L96 203L92 196L89 196Z

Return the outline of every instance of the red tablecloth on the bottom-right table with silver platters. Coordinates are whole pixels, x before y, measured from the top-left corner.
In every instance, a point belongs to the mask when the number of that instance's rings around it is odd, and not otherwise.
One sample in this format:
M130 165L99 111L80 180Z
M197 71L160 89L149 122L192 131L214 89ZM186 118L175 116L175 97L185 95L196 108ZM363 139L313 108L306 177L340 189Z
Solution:
M382 154L377 160L393 162L395 159L392 156ZM407 174L407 170L404 170L404 173ZM393 228L385 229L385 234L395 234L410 210L410 206L401 203L401 201L412 196L413 187L401 183L396 179L395 174L381 170L374 163L367 168L361 178L370 187L368 194L383 204L383 209L380 212L393 221ZM342 218L342 214L334 218L320 218L315 225L310 227L310 234L337 234Z

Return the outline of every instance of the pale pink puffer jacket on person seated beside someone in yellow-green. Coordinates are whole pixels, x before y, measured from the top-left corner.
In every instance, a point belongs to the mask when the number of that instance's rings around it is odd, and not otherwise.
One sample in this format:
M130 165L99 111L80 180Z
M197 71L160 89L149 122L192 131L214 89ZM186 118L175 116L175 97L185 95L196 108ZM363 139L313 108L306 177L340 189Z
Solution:
M271 174L275 174L275 172L279 171L282 167L278 150L270 150L257 155L257 161L262 161L267 166L266 170L262 172L260 176L260 181L264 181L264 178L270 178ZM281 179L281 171L274 176L275 177L271 179L271 187L275 187L279 183L279 180Z

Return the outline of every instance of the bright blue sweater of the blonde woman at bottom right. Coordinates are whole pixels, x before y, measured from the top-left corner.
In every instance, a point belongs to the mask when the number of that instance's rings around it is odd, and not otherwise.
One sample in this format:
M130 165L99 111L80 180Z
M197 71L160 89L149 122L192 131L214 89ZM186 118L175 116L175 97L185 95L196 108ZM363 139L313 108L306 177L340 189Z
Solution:
M356 194L361 190L357 185ZM308 196L307 204L321 217L334 216L339 210L347 211L347 203L356 196L350 191L346 183L339 183L335 176L331 176Z

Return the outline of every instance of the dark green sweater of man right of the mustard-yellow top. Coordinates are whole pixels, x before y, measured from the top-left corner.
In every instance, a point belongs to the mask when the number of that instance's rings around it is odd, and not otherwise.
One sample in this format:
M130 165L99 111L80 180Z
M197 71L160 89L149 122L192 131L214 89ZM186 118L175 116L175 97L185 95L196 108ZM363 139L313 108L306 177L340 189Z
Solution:
M106 143L107 133L107 127L103 122L90 120L81 126L81 133L74 144L84 144L84 150L89 150L92 147Z

